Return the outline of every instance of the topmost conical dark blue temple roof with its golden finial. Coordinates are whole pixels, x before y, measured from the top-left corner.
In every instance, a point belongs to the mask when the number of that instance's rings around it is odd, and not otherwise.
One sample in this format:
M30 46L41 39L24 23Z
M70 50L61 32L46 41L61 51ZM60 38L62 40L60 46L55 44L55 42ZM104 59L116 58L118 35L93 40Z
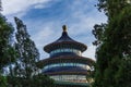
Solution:
M58 40L44 47L44 50L46 52L50 53L52 50L62 49L62 48L78 49L81 50L82 52L87 49L86 45L78 42L69 37L66 25L63 25L62 28L63 32L61 37Z

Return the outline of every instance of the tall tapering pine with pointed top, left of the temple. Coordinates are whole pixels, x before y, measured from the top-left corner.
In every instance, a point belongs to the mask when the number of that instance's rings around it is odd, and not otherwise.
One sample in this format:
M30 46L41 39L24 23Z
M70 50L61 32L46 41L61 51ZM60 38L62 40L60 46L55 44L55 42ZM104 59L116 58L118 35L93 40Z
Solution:
M15 17L16 23L16 44L15 49L19 53L19 60L14 67L17 77L23 77L23 87L31 87L29 83L34 75L37 75L38 67L36 63L39 60L39 53L33 40L26 30L26 26L21 20Z

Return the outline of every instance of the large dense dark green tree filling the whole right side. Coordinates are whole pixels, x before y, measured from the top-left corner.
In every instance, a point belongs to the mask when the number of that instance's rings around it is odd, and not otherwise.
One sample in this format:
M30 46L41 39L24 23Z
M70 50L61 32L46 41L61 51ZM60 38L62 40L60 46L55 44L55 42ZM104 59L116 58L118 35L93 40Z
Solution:
M131 3L127 0L98 0L107 24L95 25L96 69L94 87L131 86Z

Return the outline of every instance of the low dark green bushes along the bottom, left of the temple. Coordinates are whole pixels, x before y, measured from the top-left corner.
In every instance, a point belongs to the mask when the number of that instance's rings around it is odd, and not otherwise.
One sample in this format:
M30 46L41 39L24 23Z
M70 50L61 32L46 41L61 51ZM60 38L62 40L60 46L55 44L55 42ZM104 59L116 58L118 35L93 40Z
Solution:
M53 79L43 74L34 75L31 79L9 76L8 82L8 87L55 87Z

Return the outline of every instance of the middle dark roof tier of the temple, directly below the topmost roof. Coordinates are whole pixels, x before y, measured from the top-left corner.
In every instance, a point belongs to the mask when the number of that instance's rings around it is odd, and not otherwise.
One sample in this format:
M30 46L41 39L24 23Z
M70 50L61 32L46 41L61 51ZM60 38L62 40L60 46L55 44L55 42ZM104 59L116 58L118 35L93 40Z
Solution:
M56 64L56 63L82 63L93 66L95 61L90 58L84 58L79 55L60 55L56 58L48 58L40 60L38 62L38 66L43 69L46 65Z

